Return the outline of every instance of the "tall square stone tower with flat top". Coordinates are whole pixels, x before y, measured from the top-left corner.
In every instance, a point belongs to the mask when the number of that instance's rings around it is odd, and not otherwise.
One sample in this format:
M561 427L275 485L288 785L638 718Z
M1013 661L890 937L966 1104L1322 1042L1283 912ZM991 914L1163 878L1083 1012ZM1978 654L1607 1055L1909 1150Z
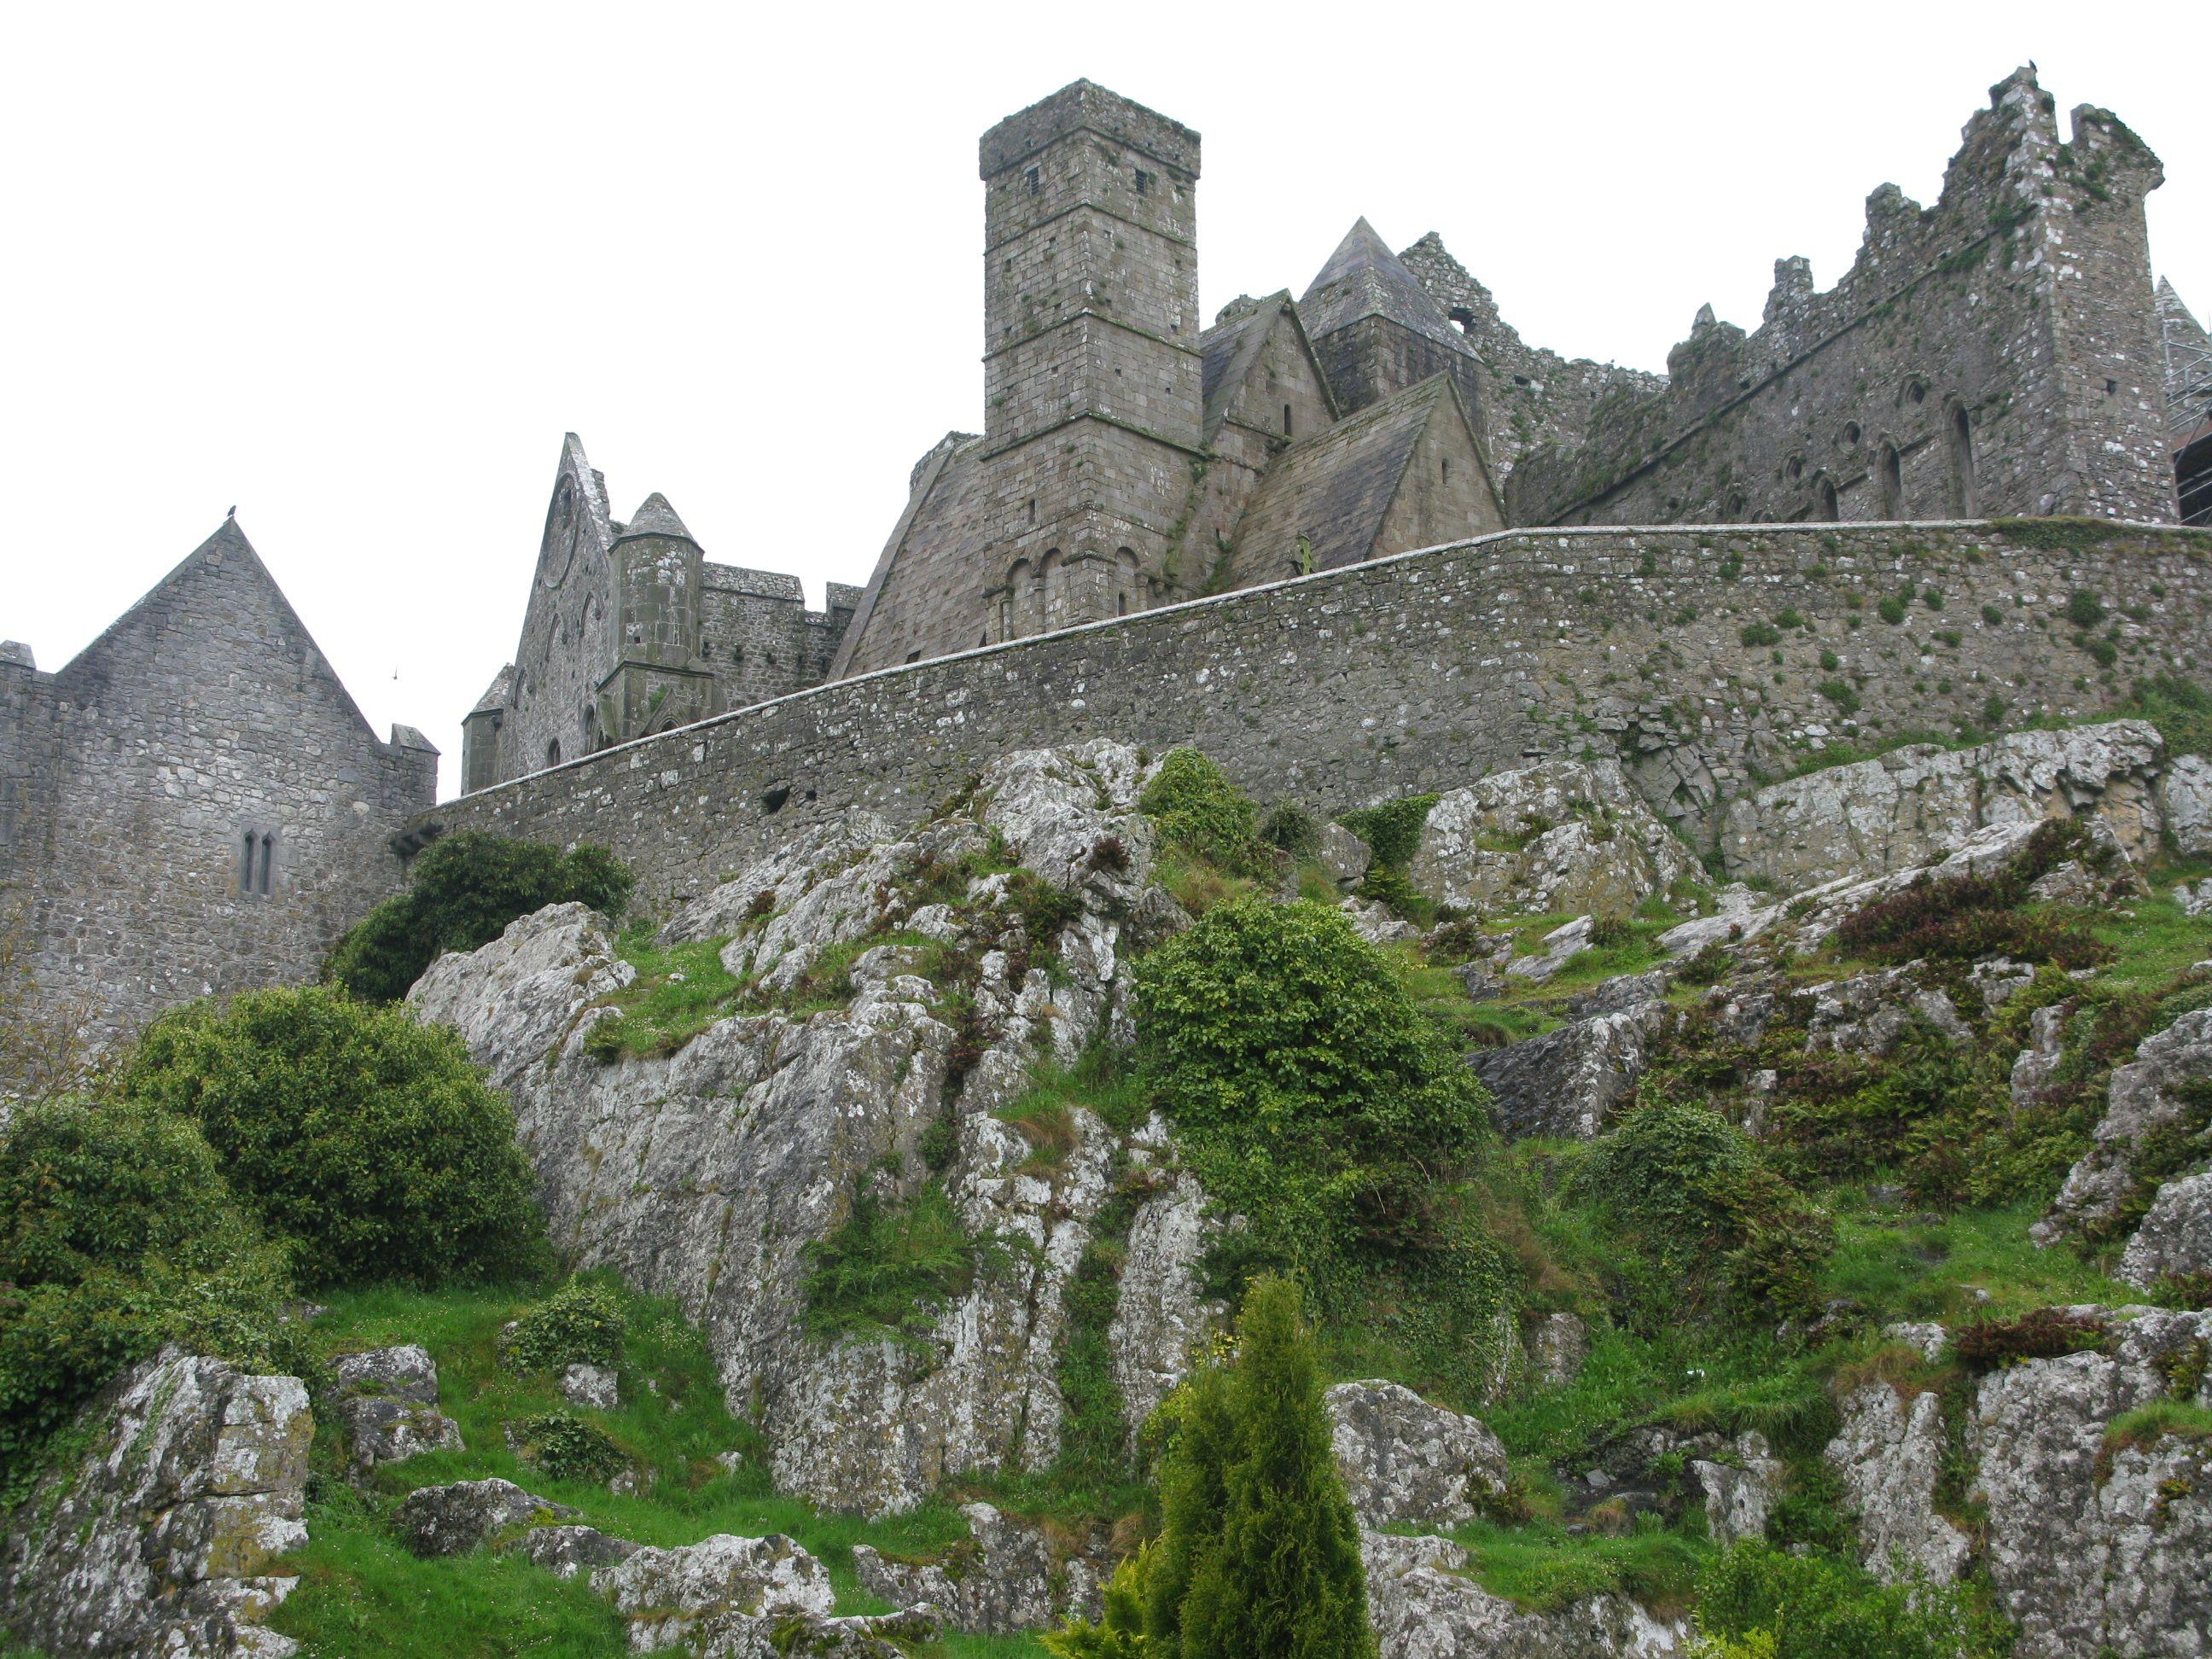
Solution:
M1203 456L1199 135L1091 82L982 137L991 635L1141 611Z

